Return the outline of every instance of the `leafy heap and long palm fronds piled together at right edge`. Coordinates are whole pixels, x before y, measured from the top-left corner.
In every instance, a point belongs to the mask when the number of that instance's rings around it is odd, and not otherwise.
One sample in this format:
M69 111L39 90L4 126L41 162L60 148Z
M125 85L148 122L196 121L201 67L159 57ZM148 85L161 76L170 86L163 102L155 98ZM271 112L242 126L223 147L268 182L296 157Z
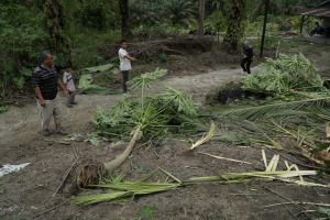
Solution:
M242 88L272 97L221 107L212 112L221 121L220 141L263 145L301 154L319 164L330 162L330 92L309 61L282 55L261 65L257 74L242 79ZM288 99L286 99L288 98ZM288 101L289 100L289 101ZM246 106L248 103L248 106ZM224 129L224 130L223 130Z

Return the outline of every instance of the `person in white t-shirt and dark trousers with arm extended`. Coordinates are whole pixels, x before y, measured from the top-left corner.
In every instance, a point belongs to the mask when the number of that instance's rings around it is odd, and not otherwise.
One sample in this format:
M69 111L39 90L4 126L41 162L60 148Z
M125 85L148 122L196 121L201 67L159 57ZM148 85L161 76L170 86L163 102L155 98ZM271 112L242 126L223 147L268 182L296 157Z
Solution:
M118 52L118 56L120 61L119 69L122 73L122 87L124 94L128 92L127 82L129 80L129 73L132 69L131 61L136 61L134 57L129 55L127 48L128 48L128 42L125 40L122 40L120 42L120 50Z

